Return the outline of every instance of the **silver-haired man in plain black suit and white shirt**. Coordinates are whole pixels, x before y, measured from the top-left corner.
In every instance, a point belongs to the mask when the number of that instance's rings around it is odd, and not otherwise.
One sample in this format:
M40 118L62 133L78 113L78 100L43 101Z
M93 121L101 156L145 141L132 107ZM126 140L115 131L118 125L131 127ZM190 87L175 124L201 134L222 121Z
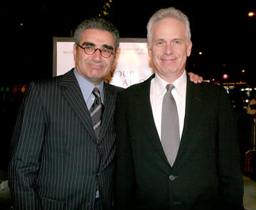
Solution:
M115 209L243 209L233 106L222 87L189 81L187 16L161 9L147 30L156 74L117 99Z

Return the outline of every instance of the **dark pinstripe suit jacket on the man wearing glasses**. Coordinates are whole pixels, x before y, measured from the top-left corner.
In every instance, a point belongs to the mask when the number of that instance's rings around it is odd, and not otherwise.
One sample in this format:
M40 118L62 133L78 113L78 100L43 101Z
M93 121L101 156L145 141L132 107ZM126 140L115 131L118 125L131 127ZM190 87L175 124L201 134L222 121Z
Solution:
M112 209L114 109L122 89L105 84L99 143L73 70L31 82L12 140L9 185L16 209Z

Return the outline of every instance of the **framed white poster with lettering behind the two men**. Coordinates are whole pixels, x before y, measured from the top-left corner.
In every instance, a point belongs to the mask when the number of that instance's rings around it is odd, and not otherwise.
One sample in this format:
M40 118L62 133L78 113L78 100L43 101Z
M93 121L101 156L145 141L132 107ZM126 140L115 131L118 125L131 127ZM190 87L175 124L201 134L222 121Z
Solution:
M53 77L65 74L74 65L72 38L53 38ZM127 88L154 73L145 38L121 38L117 59L105 82Z

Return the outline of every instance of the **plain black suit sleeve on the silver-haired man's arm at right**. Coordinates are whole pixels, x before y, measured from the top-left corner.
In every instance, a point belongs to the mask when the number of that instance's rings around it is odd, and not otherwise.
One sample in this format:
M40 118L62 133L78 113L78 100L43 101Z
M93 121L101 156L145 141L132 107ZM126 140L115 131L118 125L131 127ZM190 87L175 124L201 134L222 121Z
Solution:
M220 90L218 101L218 174L220 204L227 209L243 209L243 181L235 111L228 94Z

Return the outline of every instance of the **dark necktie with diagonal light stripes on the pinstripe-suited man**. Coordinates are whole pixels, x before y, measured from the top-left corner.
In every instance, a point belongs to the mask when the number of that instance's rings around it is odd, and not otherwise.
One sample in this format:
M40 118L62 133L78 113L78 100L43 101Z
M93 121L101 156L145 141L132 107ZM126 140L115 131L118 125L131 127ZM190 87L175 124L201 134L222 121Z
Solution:
M92 90L92 94L95 95L95 101L90 108L90 116L92 118L92 126L97 138L100 136L100 125L102 122L103 104L100 99L100 91L95 87Z

